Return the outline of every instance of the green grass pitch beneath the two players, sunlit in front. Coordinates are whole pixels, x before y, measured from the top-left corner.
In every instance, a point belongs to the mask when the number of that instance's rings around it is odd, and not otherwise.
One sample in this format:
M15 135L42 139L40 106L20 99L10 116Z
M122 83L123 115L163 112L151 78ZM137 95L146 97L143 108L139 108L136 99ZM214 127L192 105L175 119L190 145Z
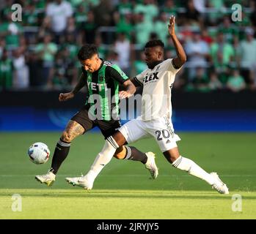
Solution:
M156 153L159 176L153 181L140 162L112 159L94 188L70 186L66 176L86 173L104 140L97 133L78 137L59 170L54 186L34 179L51 166L34 165L26 152L37 141L54 153L59 132L0 133L0 219L255 219L256 134L178 133L180 154L208 172L216 171L230 195L219 195L198 178L169 165L153 139L133 145ZM21 195L22 210L12 211L12 195ZM241 211L233 195L241 195Z

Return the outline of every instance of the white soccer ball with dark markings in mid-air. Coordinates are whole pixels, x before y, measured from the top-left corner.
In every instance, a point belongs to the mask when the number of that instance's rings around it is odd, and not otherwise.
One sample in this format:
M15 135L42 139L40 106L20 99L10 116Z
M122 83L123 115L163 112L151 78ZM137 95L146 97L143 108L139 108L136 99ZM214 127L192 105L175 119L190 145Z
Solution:
M43 164L48 161L50 151L45 143L37 142L29 147L29 159L35 164Z

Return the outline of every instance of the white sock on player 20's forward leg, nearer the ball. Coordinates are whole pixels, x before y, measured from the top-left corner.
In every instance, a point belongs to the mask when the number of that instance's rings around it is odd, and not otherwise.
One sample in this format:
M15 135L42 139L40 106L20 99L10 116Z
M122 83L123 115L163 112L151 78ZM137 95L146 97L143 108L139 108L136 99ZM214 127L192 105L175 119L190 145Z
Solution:
M100 171L105 167L112 159L114 152L119 148L113 137L108 137L103 149L100 151L98 156L95 158L91 169L85 176L88 181L94 181Z

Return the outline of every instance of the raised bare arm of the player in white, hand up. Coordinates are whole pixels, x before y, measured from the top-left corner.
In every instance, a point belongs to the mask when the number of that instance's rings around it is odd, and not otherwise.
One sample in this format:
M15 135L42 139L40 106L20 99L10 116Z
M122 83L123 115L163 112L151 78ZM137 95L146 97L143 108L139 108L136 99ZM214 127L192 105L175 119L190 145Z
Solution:
M175 16L173 15L169 18L168 31L169 35L172 37L172 42L175 45L176 53L178 56L177 58L173 59L175 68L178 69L186 63L186 53L175 34Z

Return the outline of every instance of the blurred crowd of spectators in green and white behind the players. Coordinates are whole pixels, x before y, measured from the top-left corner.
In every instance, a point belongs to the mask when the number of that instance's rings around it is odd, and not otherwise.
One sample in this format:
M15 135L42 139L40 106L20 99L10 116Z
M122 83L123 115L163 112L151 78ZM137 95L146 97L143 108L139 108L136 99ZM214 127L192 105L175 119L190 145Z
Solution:
M21 22L12 21L15 3ZM241 20L232 20L233 4L241 4ZM0 12L0 91L71 88L84 43L98 45L101 58L133 77L147 68L148 39L163 40L166 59L176 55L171 15L188 57L175 88L256 90L254 0L1 0Z

